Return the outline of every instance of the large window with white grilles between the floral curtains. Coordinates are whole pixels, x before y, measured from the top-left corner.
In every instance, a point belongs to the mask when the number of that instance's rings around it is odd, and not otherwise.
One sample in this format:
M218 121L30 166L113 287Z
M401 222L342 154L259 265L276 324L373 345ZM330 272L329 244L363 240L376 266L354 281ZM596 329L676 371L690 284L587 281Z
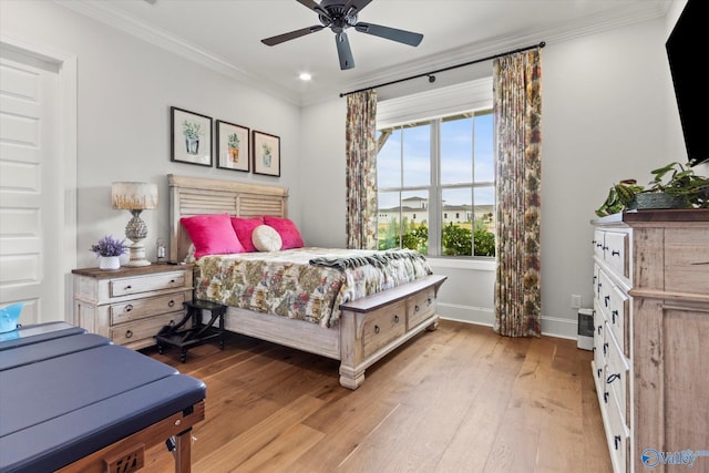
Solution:
M490 107L378 130L380 249L494 256L493 133Z

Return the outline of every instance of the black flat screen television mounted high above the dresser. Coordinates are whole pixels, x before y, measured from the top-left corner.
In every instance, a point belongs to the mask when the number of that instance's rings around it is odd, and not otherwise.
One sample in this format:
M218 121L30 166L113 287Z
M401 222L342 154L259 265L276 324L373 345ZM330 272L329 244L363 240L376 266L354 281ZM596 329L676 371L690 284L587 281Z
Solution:
M688 0L665 48L675 84L679 120L685 135L688 161L697 165L709 161L709 81L706 63L707 16L701 6L706 0ZM706 64L705 64L706 65Z

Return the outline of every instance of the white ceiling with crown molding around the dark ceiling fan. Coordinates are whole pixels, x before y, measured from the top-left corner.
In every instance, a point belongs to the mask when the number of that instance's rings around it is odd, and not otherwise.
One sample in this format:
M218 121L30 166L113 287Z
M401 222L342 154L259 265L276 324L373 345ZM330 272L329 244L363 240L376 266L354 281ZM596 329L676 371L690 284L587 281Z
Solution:
M419 32L423 41L412 48L350 28L356 66L341 71L329 29L275 47L260 42L320 24L296 0L56 0L302 105L541 41L552 44L661 17L672 1L372 0L359 21ZM301 72L312 80L300 81Z

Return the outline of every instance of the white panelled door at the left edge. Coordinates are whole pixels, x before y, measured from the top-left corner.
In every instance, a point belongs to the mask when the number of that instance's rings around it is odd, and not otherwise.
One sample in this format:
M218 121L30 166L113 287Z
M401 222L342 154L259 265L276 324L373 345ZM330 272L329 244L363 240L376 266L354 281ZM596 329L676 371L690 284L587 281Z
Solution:
M24 302L20 323L65 317L61 256L59 66L0 50L0 307Z

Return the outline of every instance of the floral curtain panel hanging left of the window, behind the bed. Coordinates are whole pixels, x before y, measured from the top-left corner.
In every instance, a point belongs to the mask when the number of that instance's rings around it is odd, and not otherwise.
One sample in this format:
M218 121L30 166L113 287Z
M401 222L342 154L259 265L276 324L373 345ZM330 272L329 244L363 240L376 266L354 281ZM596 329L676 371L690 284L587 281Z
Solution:
M377 249L377 91L347 96L347 247Z

